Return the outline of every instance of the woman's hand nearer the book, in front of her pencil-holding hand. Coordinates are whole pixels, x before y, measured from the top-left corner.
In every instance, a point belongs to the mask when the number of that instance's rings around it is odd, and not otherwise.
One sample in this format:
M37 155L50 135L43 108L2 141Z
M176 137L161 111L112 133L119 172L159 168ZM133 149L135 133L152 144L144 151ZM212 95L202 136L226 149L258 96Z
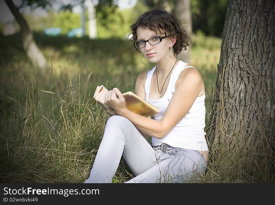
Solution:
M126 108L125 99L118 88L114 88L113 90L109 91L108 95L105 98L105 104L113 108L113 110L116 111L118 115L123 116L123 113L128 110Z

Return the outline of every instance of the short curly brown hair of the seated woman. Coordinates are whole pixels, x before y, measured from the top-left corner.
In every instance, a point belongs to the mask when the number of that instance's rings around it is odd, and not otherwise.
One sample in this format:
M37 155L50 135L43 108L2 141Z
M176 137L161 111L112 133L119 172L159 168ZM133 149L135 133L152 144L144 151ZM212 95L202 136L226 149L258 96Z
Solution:
M132 44L137 40L137 29L148 28L155 31L156 34L164 31L165 36L177 38L174 44L174 53L179 54L182 49L187 50L187 46L191 44L190 33L186 27L183 26L182 22L173 14L163 9L154 9L143 13L138 20L134 22L130 28L133 36L130 41ZM131 35L131 34L130 34ZM138 49L136 49L138 50Z

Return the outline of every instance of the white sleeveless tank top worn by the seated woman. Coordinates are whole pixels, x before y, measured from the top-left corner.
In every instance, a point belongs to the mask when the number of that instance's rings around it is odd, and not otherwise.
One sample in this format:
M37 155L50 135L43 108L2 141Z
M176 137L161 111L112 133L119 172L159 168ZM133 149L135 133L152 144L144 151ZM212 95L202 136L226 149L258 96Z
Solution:
M154 115L154 120L161 120L163 115L166 112L168 104L173 97L175 92L175 84L178 80L178 76L180 75L181 71L185 68L192 67L187 66L188 63L183 61L179 61L177 66L174 68L166 93L158 100L150 100L149 99L149 90L151 85L151 79L153 73L156 69L156 66L148 71L147 78L145 81L145 92L146 92L146 101L155 105L159 108L159 113ZM199 96L194 101L192 107L187 112L185 117L179 121L179 123L162 139L155 138L152 136L152 144L154 146L160 145L161 143L169 144L173 147L179 147L184 149L193 149L193 150L200 150L200 151L208 151L207 143L205 140L205 92L202 96Z

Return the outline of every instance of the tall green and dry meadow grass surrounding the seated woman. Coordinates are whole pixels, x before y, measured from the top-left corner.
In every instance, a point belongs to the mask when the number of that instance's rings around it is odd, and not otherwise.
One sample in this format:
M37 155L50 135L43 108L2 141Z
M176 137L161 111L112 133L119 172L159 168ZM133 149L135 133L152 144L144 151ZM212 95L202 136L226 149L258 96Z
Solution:
M118 38L68 39L41 33L35 33L35 38L49 62L44 73L27 60L19 35L0 37L1 182L82 183L88 178L109 117L99 105L91 105L96 86L134 92L138 74L153 65L141 64L140 54ZM221 39L195 35L192 40L189 64L204 80L207 131ZM271 172L265 172L268 162L246 164L253 150L244 154L238 147L228 152L226 143L214 144L212 150L215 160L193 182L275 181ZM133 177L122 157L113 183Z

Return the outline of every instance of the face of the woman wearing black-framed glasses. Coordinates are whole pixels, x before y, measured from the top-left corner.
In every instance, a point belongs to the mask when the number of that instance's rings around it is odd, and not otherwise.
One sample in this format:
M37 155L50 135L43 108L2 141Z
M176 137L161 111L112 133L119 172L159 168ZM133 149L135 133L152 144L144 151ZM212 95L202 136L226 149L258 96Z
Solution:
M150 29L138 28L137 29L137 41L139 40L148 40L149 38L160 36L164 37L165 34L157 33ZM166 37L163 38L162 41L156 45L150 45L148 42L145 43L143 48L140 48L140 51L143 53L145 58L152 62L157 63L159 61L163 61L165 59L170 58L169 47L172 47L176 42L175 38ZM168 58L169 57L169 58Z

